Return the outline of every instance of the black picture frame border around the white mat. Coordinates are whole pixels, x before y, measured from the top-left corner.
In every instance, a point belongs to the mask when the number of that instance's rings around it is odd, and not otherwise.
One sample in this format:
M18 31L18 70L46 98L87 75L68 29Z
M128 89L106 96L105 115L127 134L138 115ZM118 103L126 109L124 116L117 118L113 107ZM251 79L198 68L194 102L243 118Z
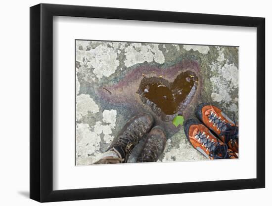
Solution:
M53 190L53 16L257 28L257 178ZM30 198L39 202L265 187L265 18L59 4L30 8Z

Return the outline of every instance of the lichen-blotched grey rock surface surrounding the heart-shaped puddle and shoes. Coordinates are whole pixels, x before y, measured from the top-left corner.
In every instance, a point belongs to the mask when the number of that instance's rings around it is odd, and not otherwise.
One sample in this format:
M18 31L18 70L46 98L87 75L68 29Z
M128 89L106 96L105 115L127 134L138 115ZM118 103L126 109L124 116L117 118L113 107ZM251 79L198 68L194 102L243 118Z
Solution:
M76 165L91 165L107 150L126 122L149 112L154 125L167 133L159 161L206 160L185 137L183 127L165 123L136 93L141 80L161 78L173 82L184 70L199 78L198 91L187 105L185 117L195 118L200 102L219 106L238 122L238 47L76 41ZM129 163L136 161L144 138Z

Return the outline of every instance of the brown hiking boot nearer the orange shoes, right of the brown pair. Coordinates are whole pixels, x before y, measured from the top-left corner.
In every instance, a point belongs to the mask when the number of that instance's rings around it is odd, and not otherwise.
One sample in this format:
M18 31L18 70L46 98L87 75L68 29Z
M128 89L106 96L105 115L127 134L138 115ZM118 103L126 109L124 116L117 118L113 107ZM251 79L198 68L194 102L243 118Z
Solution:
M143 149L138 156L137 163L157 162L163 153L166 135L162 127L155 126L147 134Z

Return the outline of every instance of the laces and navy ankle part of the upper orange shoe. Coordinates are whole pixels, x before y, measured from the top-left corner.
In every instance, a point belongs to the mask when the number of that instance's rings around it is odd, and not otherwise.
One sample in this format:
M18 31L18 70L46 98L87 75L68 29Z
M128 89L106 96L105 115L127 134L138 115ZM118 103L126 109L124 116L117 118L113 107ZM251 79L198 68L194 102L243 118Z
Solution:
M229 123L226 123L221 117L218 117L213 111L208 115L209 122L213 123L214 126L220 130L220 135L225 135L225 142L228 144L230 141L231 146L233 147L235 142L238 141L238 126L235 122L235 114L233 115L234 126Z

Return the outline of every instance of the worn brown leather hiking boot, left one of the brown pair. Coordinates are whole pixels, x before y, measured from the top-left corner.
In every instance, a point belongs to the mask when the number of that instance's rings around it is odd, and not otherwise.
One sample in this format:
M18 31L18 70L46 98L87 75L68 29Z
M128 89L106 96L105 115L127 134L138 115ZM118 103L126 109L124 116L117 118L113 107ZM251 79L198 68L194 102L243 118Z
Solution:
M118 153L119 158L123 159L120 163L126 163L135 145L149 132L152 125L153 117L148 113L133 117L113 139L107 151Z

